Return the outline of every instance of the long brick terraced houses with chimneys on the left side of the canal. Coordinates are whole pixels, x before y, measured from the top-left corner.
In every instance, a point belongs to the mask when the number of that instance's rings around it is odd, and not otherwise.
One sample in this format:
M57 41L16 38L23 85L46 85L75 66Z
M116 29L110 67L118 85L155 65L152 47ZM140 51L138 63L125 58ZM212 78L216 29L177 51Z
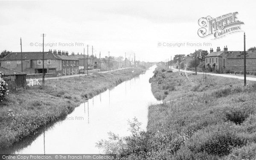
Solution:
M20 72L23 68L27 74L43 73L43 52L22 52L22 57L20 52L11 52L1 59L1 67ZM78 74L79 60L68 56L68 52L49 50L44 52L44 73L56 73L58 76Z

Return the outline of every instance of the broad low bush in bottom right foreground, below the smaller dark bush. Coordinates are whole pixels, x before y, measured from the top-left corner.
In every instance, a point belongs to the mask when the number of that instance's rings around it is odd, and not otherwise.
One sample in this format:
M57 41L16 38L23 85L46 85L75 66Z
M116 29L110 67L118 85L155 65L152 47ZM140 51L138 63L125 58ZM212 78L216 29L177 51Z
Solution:
M240 136L230 125L212 125L196 132L186 144L194 153L224 156L230 154L233 147L246 144L246 138Z

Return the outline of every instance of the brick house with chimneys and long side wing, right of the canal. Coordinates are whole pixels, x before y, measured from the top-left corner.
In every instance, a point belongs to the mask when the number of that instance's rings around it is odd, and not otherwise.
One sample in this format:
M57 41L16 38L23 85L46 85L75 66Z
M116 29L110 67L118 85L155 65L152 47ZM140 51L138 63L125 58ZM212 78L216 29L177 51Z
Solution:
M205 68L211 72L229 73L244 70L244 52L228 51L227 46L216 52L210 49L210 54L205 57ZM256 71L256 51L246 51L246 70Z

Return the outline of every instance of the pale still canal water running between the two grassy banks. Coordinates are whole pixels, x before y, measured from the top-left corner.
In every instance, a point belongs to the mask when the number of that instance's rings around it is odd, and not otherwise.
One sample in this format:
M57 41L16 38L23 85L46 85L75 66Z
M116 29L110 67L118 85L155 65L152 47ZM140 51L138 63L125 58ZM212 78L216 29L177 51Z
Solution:
M4 151L5 154L98 154L96 142L107 139L109 131L119 136L130 134L128 119L136 117L146 129L148 106L159 103L148 81L155 67L94 96L65 119L42 128L35 136Z

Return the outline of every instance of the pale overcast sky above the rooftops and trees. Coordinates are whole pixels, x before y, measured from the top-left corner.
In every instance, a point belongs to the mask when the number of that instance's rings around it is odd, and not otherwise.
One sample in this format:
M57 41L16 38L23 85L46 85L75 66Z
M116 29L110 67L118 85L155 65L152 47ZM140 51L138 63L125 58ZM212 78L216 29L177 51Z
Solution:
M140 61L166 61L195 49L246 49L256 46L255 0L0 0L0 51L49 49L69 54L131 57ZM238 12L241 31L223 38L198 36L201 17ZM166 46L185 43L184 46ZM204 45L205 43L205 45ZM160 45L159 45L160 44ZM197 46L202 44L202 46ZM208 44L208 45L207 45ZM165 45L165 46L164 46Z

